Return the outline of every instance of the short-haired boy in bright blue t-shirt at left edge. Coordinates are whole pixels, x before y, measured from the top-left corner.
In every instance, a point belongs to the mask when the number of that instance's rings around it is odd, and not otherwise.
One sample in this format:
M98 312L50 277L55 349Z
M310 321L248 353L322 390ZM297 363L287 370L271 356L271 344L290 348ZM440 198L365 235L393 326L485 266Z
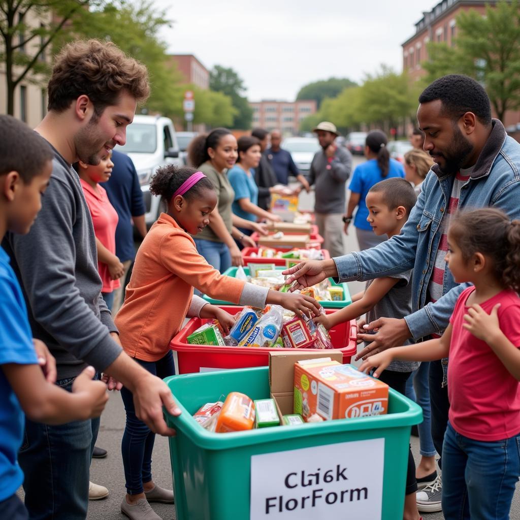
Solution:
M7 231L29 232L41 208L53 157L45 139L15 118L0 115L0 239ZM108 395L105 383L92 381L94 375L94 368L87 367L72 393L54 384L56 361L44 343L32 338L20 284L0 248L0 518L29 518L16 495L23 483L17 460L23 412L48 424L98 417Z

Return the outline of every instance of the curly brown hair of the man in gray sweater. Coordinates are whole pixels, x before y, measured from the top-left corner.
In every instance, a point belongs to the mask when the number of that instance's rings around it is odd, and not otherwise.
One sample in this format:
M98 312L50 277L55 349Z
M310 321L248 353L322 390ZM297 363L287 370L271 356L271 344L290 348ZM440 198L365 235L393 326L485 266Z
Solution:
M137 101L148 98L148 71L142 63L126 56L111 42L72 42L56 56L48 85L48 110L63 112L85 94L100 115L106 107L116 104L123 89Z

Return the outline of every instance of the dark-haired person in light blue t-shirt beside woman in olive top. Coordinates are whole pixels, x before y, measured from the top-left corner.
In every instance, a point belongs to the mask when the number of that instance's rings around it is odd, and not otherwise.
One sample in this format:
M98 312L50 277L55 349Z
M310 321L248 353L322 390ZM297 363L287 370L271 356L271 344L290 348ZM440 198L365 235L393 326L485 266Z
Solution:
M256 137L243 136L237 141L238 159L235 166L228 171L228 179L231 187L235 191L235 200L231 209L235 215L257 222L258 220L272 220L280 222L278 215L269 213L258 206L258 186L255 183L253 168L258 166L262 152L260 142ZM238 228L244 235L251 235L252 230ZM242 244L237 241L240 249Z

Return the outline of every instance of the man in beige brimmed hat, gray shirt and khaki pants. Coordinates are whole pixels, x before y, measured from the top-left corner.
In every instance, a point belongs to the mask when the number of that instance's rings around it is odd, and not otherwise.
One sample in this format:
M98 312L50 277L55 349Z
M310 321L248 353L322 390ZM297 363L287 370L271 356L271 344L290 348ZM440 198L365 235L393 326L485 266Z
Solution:
M345 211L345 183L352 171L352 155L337 147L336 126L322 121L314 132L322 148L310 164L309 184L316 184L314 211L320 235L325 239L323 249L331 258L345 254L343 244L343 213Z

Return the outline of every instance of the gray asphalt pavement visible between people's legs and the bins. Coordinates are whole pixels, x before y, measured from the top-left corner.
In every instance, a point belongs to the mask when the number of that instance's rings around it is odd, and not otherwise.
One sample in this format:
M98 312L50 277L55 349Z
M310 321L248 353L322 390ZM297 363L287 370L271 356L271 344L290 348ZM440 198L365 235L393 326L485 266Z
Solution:
M361 162L355 157L355 164ZM314 195L305 193L301 196L301 207L313 209ZM345 252L357 251L358 244L355 235L347 236L345 239ZM362 283L349 283L351 293L363 288ZM90 479L97 484L106 486L110 495L106 499L91 501L89 503L88 520L116 520L126 518L120 512L120 503L125 494L123 465L121 461L121 438L125 424L125 413L121 396L113 393L110 396L107 408L101 417L101 428L97 445L108 450L106 459L94 459L90 471ZM419 460L419 441L417 437L411 437L412 452L415 460ZM153 479L163 487L171 488L172 472L170 466L170 454L168 442L164 437L157 436L153 451L152 462ZM164 520L175 518L173 505L152 504L153 509ZM511 519L520 520L520 492L517 490L511 510ZM231 520L231 519L230 519ZM237 519L241 520L241 519ZM318 520L318 519L317 519ZM367 519L371 520L371 519ZM396 519L399 520L399 519ZM424 520L444 520L442 513L425 513Z

